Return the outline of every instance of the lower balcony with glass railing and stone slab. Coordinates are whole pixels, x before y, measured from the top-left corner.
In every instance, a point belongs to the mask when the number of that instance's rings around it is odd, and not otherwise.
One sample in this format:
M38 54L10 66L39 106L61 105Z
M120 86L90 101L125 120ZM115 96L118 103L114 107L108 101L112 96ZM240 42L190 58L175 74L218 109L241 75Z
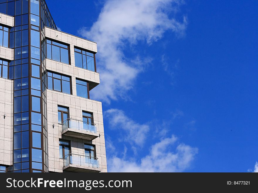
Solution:
M101 172L98 158L71 153L64 156L63 170L70 172Z

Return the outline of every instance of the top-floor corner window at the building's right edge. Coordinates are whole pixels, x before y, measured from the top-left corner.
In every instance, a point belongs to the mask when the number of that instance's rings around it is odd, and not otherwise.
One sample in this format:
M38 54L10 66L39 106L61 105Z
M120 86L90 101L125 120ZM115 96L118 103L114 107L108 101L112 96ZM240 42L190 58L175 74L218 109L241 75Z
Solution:
M75 66L95 72L95 54L74 48Z

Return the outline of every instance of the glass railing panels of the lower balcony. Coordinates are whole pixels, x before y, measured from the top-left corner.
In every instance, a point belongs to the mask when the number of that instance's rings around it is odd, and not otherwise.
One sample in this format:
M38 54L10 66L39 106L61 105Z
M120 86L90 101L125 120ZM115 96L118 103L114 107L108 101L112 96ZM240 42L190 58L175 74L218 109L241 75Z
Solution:
M71 153L64 156L64 166L69 164L99 168L98 158Z

